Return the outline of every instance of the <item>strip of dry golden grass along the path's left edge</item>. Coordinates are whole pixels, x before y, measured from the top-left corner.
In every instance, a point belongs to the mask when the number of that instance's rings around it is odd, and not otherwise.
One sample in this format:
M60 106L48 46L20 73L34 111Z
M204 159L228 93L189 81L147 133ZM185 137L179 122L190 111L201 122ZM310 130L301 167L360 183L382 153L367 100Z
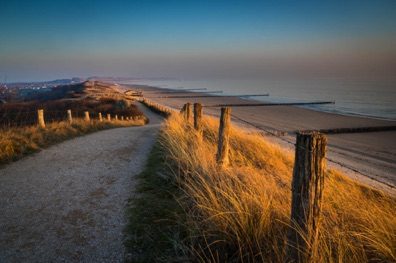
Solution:
M0 128L0 165L79 135L116 127L140 126L145 123L145 118L118 122L86 122L82 119L73 119L72 125L67 122L53 122L46 124L45 129L38 126L3 127Z

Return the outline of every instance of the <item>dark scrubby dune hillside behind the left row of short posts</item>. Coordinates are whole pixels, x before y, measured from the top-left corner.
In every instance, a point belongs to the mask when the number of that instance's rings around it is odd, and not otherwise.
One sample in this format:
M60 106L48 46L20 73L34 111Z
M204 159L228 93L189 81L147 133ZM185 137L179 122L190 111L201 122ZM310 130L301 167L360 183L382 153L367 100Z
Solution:
M116 90L116 85L100 81L62 85L50 89L20 92L6 103L0 104L0 125L32 125L37 123L37 110L43 109L45 119L65 120L67 110L73 116L83 117L88 111L91 116L143 116L132 103L133 97Z

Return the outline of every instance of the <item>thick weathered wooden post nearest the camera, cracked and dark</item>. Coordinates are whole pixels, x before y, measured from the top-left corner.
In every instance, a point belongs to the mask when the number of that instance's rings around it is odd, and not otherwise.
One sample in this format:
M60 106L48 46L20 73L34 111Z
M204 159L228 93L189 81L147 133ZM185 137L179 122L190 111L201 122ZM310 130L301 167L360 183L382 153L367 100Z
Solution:
M297 134L287 262L307 262L315 258L326 169L326 147L327 137L324 134Z

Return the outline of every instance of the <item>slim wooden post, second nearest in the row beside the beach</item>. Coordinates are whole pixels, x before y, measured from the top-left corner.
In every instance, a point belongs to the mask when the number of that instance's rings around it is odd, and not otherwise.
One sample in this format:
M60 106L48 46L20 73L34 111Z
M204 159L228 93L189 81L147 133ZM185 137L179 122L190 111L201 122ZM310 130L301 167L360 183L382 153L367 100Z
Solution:
M216 161L221 167L228 165L229 133L231 125L231 108L221 108L219 142Z

